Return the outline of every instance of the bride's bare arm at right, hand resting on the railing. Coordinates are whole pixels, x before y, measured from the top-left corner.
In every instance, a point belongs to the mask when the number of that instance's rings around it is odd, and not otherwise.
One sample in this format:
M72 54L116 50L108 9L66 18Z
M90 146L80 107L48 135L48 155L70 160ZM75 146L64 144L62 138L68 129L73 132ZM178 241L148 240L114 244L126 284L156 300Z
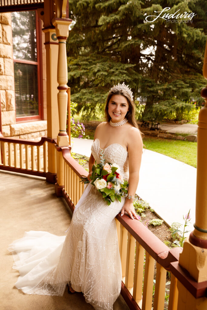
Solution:
M128 137L128 157L129 157L129 180L128 180L128 194L134 196L137 190L137 185L139 181L139 169L142 159L142 149L143 142L140 132L136 128L131 129L130 135ZM134 206L133 199L126 198L125 204L121 210L121 216L124 211L128 213L131 219L133 216L138 219Z

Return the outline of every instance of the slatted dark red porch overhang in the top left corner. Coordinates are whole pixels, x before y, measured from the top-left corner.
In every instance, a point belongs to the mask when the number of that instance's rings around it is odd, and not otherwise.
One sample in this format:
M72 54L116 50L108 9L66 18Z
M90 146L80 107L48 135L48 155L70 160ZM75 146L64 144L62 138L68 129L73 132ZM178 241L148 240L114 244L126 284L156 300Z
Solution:
M0 0L0 13L44 7L44 0Z

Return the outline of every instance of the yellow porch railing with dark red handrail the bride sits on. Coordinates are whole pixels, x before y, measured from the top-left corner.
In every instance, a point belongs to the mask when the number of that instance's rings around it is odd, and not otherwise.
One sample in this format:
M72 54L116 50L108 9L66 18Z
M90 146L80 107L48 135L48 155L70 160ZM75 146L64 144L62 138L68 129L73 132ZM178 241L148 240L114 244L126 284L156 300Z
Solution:
M41 141L4 138L0 135L0 169L31 175L47 173L47 143L55 140L43 137ZM64 169L61 173L61 193L74 211L83 193L81 175L88 172L70 155L70 148L57 147ZM181 248L169 249L150 230L127 215L116 216L119 251L122 264L121 294L132 310L177 310L180 281L195 297L204 297L207 281L197 283L178 264ZM155 265L156 263L156 265ZM166 273L170 274L170 289L166 291Z

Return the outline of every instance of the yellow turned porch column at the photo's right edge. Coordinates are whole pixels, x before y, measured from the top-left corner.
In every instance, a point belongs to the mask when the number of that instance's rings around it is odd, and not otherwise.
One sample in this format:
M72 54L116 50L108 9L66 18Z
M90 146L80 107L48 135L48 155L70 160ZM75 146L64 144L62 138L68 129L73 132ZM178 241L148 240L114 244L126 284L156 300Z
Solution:
M203 75L207 79L207 42L205 48ZM180 254L179 264L197 281L207 281L207 86L201 97L205 106L201 108L197 136L197 184L196 222L194 231L186 239ZM178 310L206 310L205 297L195 299L178 281Z

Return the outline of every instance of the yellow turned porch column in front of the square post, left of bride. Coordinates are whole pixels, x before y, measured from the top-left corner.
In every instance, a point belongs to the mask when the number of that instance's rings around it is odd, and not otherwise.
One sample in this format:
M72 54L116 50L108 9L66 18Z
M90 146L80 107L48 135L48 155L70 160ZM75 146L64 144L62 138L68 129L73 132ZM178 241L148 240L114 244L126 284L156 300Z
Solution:
M59 133L57 135L57 183L55 190L57 196L61 196L61 190L64 187L64 160L61 147L69 147L69 137L66 132L67 105L68 105L68 69L66 55L66 40L69 34L69 25L72 20L65 18L67 15L67 1L56 0L56 15L52 20L56 29L58 39L58 62L57 62L57 82L58 82L58 115L59 115Z

